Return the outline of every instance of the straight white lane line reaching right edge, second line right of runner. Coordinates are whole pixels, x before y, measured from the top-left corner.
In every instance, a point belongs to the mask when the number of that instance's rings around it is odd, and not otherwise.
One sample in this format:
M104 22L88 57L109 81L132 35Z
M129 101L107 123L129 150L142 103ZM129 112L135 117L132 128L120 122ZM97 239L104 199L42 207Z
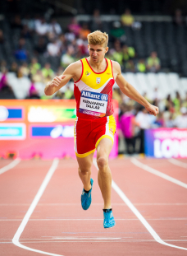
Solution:
M187 184L185 184L184 182L182 182L182 181L180 181L180 180L178 180L178 179L172 178L172 177L169 176L169 175L165 175L165 174L163 174L161 171L155 170L155 169L153 169L152 167L150 167L150 166L148 166L148 165L144 165L144 164L142 164L140 161L138 161L137 159L135 159L134 157L132 157L132 158L130 159L130 161L131 161L134 165L138 166L138 167L141 168L141 169L147 170L149 173L151 173L151 174L153 174L153 175L157 175L158 177L161 177L162 179L166 179L166 180L168 180L168 181L171 181L171 182L174 183L174 184L177 184L177 185L179 185L179 186L181 186L181 187L187 189Z

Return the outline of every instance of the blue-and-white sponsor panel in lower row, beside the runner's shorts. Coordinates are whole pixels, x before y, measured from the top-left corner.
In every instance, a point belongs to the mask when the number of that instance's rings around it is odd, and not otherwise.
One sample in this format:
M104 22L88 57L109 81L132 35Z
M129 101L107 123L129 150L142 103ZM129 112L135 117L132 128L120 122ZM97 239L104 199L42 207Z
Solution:
M73 125L31 126L31 137L74 137Z

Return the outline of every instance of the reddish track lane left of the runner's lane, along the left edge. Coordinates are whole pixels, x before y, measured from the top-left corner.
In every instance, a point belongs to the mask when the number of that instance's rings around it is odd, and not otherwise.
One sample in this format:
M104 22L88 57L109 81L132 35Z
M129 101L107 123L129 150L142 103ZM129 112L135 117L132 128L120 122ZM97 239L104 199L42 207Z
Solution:
M52 161L21 161L13 169L1 175L0 179L0 218L21 219L25 216L37 189ZM37 179L36 179L37 177ZM17 204L14 206L14 204ZM6 204L4 206L3 204ZM10 205L9 205L10 204ZM12 239L21 221L0 221L0 239ZM0 244L2 255L25 255L14 244ZM32 254L26 254L32 255Z

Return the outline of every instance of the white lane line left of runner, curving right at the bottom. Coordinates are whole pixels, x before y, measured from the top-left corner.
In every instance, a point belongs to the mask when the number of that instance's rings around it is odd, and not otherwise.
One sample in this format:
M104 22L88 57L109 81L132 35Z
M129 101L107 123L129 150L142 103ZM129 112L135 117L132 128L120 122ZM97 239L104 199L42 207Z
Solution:
M48 252L43 252L39 249L32 249L30 247L27 247L27 246L21 244L19 240L20 240L23 230L25 229L27 222L30 219L30 216L34 212L34 208L37 206L39 199L42 197L43 192L46 189L50 179L52 178L54 171L57 169L58 162L59 162L59 160L57 158L52 161L52 165L51 165L50 169L48 170L48 174L43 179L43 183L41 184L38 193L35 195L35 198L34 198L33 202L31 203L29 210L26 212L25 217L21 221L21 225L19 226L18 230L16 231L16 234L14 235L14 237L12 239L12 243L18 247L21 247L22 249L27 249L27 250L30 250L35 253L46 254L46 255L51 255L51 256L62 256L62 255L50 254Z

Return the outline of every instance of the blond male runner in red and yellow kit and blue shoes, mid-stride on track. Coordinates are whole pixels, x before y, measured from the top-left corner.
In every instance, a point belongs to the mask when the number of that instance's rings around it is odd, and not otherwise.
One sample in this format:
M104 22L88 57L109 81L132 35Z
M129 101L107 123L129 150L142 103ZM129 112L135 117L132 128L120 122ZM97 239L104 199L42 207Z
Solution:
M71 63L62 76L54 77L45 87L45 94L52 95L71 78L75 81L76 100L75 154L79 175L83 183L81 205L87 210L91 204L94 180L91 166L97 149L98 185L103 195L103 226L115 226L112 214L112 174L108 156L112 150L116 122L112 108L112 86L115 81L121 91L144 105L149 114L158 114L158 108L148 103L121 74L119 63L104 58L108 51L108 35L99 30L88 35L89 57Z

